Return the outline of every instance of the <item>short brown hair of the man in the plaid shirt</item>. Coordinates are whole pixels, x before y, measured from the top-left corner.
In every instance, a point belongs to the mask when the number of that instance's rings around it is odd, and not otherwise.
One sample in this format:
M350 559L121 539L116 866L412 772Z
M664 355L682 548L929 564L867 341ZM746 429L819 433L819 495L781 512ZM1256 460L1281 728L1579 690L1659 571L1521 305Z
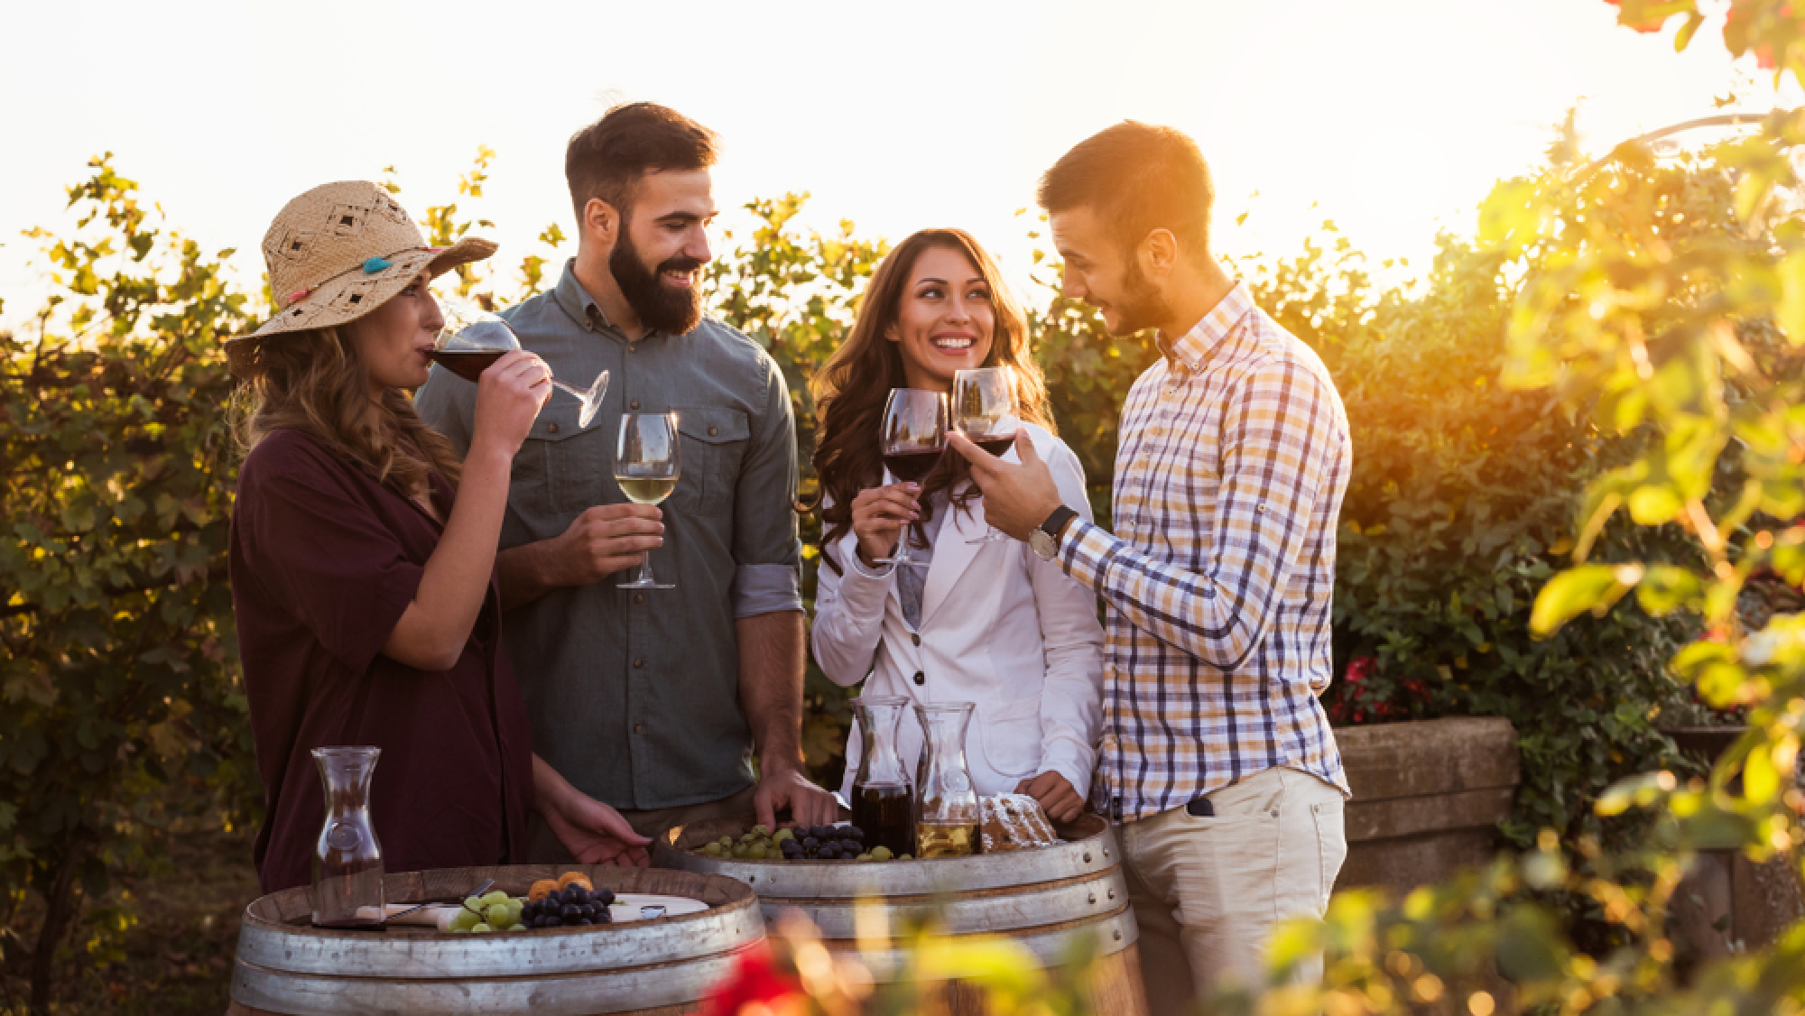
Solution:
M1123 249L1170 229L1184 256L1209 253L1209 166L1197 143L1170 126L1128 119L1079 141L1040 179L1036 197L1049 213L1092 208Z

